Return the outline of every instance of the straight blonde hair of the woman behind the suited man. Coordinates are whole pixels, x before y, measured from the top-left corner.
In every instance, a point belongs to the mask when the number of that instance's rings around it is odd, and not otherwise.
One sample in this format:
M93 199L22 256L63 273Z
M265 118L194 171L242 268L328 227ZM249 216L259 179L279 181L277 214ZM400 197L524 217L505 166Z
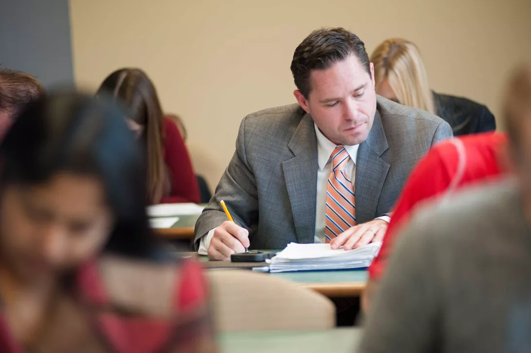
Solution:
M371 55L376 87L388 79L400 104L435 113L426 69L415 44L401 39L384 40Z

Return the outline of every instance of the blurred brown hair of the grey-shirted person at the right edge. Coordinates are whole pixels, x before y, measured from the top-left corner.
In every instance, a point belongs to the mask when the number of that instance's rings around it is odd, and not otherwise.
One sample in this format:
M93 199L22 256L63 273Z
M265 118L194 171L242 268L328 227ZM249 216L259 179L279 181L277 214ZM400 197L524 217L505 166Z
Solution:
M531 62L513 71L502 109L510 144L518 152L523 139L522 125L526 119L531 120Z

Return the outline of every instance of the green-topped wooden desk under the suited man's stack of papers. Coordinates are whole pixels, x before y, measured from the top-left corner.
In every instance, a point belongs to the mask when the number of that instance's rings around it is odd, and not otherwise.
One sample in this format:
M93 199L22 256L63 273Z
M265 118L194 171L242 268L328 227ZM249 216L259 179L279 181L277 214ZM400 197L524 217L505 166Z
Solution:
M183 253L186 256L198 256L197 253ZM261 262L234 263L230 261L209 261L207 256L198 256L207 269L252 268L267 265ZM329 298L357 297L362 294L367 285L366 270L328 270L328 271L297 271L268 273L269 275L297 283L312 289Z

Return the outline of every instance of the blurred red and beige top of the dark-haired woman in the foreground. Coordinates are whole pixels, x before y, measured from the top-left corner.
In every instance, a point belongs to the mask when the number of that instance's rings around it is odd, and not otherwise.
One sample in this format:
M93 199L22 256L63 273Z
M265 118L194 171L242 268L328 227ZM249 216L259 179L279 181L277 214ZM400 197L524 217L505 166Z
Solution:
M142 265L143 271L147 272L138 278L121 276L120 267L123 264L118 267L111 265L117 271L114 277L122 279L118 279L122 283L114 291L109 290L111 286L102 275L107 267L101 268L100 265L99 262L89 262L81 266L76 274L73 298L87 317L101 346L116 353L217 351L208 307L208 286L198 262L185 260L178 265ZM174 272L173 278L157 274L158 271L164 271L164 267ZM138 295L130 290L160 286L160 279L174 283L173 288L161 286L169 289L165 293L169 307L167 317L143 313L139 307L144 306L145 294ZM110 280L116 278L111 277ZM132 283L136 284L132 286ZM48 342L50 346L61 347L63 344L61 341ZM0 311L0 352L24 351Z

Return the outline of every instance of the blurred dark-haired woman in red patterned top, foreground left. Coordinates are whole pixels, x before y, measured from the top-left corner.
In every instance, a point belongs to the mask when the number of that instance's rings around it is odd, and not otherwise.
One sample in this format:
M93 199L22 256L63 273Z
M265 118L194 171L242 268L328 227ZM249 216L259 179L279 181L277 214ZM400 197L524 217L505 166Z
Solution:
M123 116L52 93L0 143L0 352L217 351L199 264L149 227Z

